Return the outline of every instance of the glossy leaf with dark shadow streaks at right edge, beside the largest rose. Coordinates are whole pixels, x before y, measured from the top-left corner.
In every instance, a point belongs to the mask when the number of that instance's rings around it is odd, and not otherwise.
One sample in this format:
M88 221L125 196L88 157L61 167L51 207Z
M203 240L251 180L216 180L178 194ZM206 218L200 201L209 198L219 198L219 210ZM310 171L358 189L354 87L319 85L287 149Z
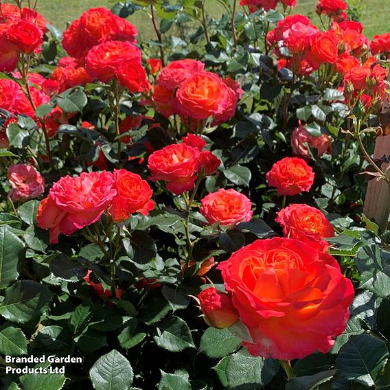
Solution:
M377 244L361 246L356 256L360 273L360 288L374 292L378 297L390 295L390 253Z

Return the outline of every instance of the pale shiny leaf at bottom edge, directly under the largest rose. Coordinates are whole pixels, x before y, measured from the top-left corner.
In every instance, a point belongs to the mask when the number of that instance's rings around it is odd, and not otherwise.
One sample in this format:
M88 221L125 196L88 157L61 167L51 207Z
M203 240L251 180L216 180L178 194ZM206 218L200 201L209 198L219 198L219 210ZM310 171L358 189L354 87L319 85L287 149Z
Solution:
M230 356L226 368L229 387L248 390L265 387L277 371L277 360L250 356L246 349Z

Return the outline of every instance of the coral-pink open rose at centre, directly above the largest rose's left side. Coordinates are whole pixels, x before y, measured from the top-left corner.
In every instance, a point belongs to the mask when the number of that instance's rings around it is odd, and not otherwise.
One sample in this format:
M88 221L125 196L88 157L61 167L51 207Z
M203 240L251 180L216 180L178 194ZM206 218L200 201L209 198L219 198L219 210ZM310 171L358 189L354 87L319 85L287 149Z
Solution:
M200 203L200 213L210 224L238 225L251 220L253 214L251 200L233 189L221 188L205 196Z

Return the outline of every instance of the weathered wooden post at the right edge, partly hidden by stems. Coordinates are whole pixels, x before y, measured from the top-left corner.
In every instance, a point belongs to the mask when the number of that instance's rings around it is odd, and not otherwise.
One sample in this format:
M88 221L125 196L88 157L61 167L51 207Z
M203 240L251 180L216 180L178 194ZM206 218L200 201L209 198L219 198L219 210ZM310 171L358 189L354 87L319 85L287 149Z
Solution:
M380 113L380 124L382 134L376 139L374 160L382 159L383 156L390 156L390 95L385 95L382 113ZM381 169L386 172L390 164L382 163ZM386 173L388 173L387 171ZM390 173L389 173L390 177ZM387 220L390 215L390 189L389 185L383 181L371 179L368 183L367 194L363 212L370 220L375 220L382 231L387 228Z

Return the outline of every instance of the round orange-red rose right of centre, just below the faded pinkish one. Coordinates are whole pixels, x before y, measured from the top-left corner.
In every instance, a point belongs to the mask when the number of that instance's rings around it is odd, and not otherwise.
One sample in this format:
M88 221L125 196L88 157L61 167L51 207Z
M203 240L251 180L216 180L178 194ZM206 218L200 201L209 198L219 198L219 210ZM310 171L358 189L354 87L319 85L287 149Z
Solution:
M305 160L285 157L273 164L266 174L268 185L276 187L279 195L297 195L309 191L314 183L314 172Z

